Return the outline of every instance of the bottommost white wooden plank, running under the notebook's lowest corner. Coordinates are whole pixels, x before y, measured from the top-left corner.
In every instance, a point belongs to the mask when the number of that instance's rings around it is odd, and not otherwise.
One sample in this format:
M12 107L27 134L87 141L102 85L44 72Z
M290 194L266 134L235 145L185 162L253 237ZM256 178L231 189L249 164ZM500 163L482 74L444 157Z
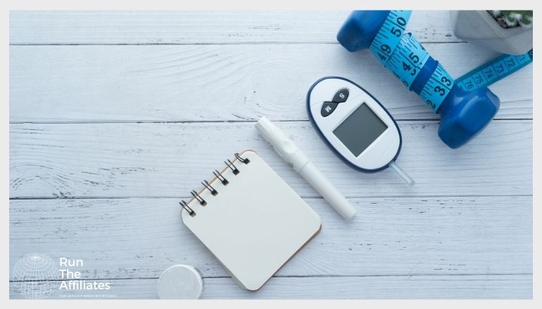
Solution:
M412 277L275 277L260 291L237 287L230 278L204 278L203 299L531 299L532 275L469 275ZM53 291L49 298L158 298L156 279L97 280L111 289L96 291ZM10 282L11 299L24 298ZM101 296L103 297L96 297ZM87 298L91 298L87 296Z

